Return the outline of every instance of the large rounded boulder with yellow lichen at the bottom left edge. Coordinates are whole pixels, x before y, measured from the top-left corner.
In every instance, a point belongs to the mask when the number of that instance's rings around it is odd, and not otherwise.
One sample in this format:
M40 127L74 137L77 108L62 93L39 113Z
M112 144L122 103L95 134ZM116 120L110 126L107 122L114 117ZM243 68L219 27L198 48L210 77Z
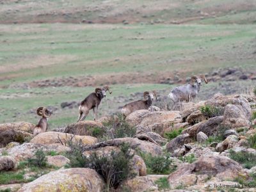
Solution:
M104 181L100 175L88 168L70 168L50 172L38 179L24 184L19 192L29 191L92 191L104 190Z

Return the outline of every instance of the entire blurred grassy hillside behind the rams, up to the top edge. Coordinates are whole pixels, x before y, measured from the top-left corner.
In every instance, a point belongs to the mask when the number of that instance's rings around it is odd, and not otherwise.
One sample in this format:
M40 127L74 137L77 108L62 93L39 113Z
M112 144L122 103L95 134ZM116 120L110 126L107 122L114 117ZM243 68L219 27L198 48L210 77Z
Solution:
M61 109L61 102L79 102L102 84L109 84L113 95L102 102L99 116L120 111L145 90L166 95L175 84L163 81L177 75L184 83L191 74L216 68L252 72L255 5L253 0L1 1L0 123L36 123L39 106L54 108L51 128L76 122L77 107ZM211 83L200 98L252 86L253 81Z

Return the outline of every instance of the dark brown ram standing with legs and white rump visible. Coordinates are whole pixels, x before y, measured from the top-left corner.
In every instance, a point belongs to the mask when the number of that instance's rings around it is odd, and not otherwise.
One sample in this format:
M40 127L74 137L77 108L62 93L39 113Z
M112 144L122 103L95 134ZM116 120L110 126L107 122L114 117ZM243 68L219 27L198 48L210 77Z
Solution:
M109 86L105 85L103 88L96 88L95 93L90 93L79 105L79 116L78 120L83 121L84 118L88 115L90 109L93 109L94 113L94 120L96 121L98 118L98 108L100 101L103 99L103 97L106 97L106 91L109 92ZM109 92L110 94L112 92Z

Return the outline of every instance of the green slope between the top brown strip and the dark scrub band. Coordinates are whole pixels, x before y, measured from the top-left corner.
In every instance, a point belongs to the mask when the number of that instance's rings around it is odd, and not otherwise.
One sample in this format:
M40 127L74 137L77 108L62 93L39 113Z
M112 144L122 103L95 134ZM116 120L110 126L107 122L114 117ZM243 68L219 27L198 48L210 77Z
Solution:
M255 66L252 25L22 24L0 29L2 87L69 76L95 76L92 86L106 79L114 84L124 74L130 83L157 83L175 71L186 76Z

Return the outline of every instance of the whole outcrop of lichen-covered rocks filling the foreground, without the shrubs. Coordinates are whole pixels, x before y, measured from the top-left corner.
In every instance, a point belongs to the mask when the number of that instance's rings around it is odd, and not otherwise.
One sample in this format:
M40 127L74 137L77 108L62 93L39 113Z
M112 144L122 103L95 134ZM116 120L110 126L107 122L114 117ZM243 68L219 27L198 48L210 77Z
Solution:
M36 136L31 134L35 126L33 124L26 122L2 124L0 125L0 138L2 138L0 144L3 148L0 149L0 153L7 152L8 156L0 156L0 171L15 170L20 161L35 156L38 148L44 152L67 152L70 148L66 146L66 141L72 138L90 148L83 153L84 156L90 156L92 152L97 154L110 154L113 150L118 152L122 143L129 143L135 153L140 150L152 156L160 156L166 150L178 166L175 172L167 175L170 191L175 191L176 188L205 191L211 189L216 183L238 184L234 181L237 177L249 179L250 173L256 168L253 167L251 170L243 168L241 164L230 159L229 152L232 149L234 152L243 151L256 155L256 150L248 146L248 137L256 133L252 129L255 122L251 121L252 106L255 106L255 103L256 98L252 95L226 96L216 93L211 99L197 104L182 104L180 111L160 111L157 107L134 111L125 120L136 127L136 135L133 138L115 138L103 142L90 136L92 135L90 131L92 127L103 129L102 122L111 119L107 116L100 118L98 122L79 122ZM209 118L201 112L202 106L223 108L223 114ZM166 132L180 128L183 131L176 138L170 141L164 138ZM8 134L10 134L8 139L3 140ZM217 134L222 134L222 141L205 144L209 137ZM193 163L185 163L179 159L191 155L196 159ZM166 175L147 175L147 166L140 154L136 154L131 161L136 177L125 180L116 190L158 191L156 180ZM65 169L63 166L69 163L69 159L65 156L47 156L47 162L62 168L27 184L0 186L0 189L102 191L106 186L95 170Z

